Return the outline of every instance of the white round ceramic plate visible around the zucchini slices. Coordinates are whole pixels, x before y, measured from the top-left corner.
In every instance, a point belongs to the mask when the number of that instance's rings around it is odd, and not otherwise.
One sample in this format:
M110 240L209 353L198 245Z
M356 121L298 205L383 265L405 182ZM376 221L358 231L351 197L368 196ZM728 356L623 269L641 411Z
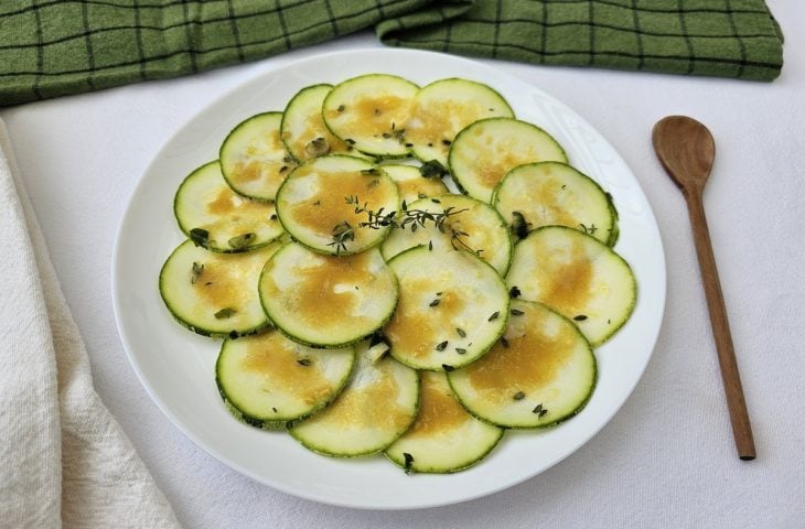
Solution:
M158 292L160 268L183 240L172 201L185 175L215 160L227 132L246 117L282 110L304 86L366 73L397 74L422 86L464 77L497 89L519 119L551 133L571 163L613 195L621 222L615 249L637 280L632 319L595 352L600 378L583 411L558 428L507 432L485 461L458 474L409 476L380 455L329 458L309 452L290 435L236 422L215 388L219 342L180 327ZM654 349L665 303L665 261L656 222L634 175L607 140L570 108L472 61L366 50L319 55L266 72L185 125L157 154L131 196L115 248L112 290L118 328L140 380L176 427L208 453L296 496L350 507L407 509L463 501L523 482L573 453L607 424L634 389Z

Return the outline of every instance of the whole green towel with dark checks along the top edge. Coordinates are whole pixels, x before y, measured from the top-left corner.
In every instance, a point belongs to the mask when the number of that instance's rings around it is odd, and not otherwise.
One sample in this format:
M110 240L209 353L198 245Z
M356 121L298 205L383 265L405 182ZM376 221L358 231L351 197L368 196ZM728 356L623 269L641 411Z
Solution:
M763 0L0 0L0 106L175 77L375 28L388 45L771 80Z

